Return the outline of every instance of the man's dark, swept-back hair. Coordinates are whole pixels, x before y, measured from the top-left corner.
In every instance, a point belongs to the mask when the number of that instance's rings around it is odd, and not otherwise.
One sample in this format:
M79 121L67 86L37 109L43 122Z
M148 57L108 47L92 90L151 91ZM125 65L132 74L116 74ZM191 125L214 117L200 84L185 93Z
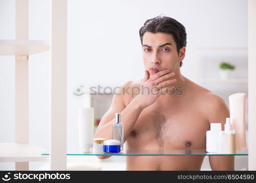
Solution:
M179 55L180 48L187 45L187 33L185 27L177 20L168 16L159 15L155 18L148 19L139 30L140 42L142 45L142 39L145 32L150 33L168 33L172 34L177 52ZM180 62L180 67L182 61Z

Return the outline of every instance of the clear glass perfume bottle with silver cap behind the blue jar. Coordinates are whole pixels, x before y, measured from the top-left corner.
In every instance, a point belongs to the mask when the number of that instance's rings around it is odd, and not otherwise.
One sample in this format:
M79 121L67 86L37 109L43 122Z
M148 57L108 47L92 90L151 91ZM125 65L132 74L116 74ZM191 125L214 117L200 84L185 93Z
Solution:
M124 148L124 126L121 123L121 114L116 113L116 122L113 123L112 139L120 141L120 151Z

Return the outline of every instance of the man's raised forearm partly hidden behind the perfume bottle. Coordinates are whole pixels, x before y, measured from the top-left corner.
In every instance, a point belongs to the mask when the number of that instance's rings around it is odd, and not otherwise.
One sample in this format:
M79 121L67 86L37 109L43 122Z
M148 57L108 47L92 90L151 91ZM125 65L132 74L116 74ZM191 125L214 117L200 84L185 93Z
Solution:
M121 122L124 125L124 142L128 138L129 134L134 127L134 124L138 120L140 113L142 112L143 108L133 100L122 112L121 112ZM115 119L111 120L110 122L106 123L102 127L100 127L96 132L94 137L102 137L106 139L112 139L112 128L113 122Z

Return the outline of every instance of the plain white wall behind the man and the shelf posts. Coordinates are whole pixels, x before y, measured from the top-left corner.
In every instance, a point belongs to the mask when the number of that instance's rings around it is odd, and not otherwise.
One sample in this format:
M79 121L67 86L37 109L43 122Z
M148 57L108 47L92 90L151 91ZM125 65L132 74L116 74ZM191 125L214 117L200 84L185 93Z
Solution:
M181 72L190 78L193 47L248 45L247 12L245 0L68 1L67 148L78 147L84 96L74 96L77 88L114 87L143 77L139 29L147 19L165 14L186 27ZM0 0L0 39L15 39L14 0ZM50 0L29 1L29 39L50 39ZM0 142L14 142L14 64L13 56L0 56ZM30 143L48 149L50 52L29 57L29 97ZM30 163L30 169L38 165ZM14 170L14 163L0 163L0 170Z

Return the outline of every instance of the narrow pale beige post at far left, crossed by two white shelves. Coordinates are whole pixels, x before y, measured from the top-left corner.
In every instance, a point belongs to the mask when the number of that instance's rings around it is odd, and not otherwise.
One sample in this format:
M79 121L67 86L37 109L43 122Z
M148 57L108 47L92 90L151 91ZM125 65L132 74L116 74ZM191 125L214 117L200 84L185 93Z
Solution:
M29 37L29 0L16 0L17 40L28 40ZM28 59L15 56L15 142L29 142L29 85ZM15 162L15 170L29 170L29 162Z

